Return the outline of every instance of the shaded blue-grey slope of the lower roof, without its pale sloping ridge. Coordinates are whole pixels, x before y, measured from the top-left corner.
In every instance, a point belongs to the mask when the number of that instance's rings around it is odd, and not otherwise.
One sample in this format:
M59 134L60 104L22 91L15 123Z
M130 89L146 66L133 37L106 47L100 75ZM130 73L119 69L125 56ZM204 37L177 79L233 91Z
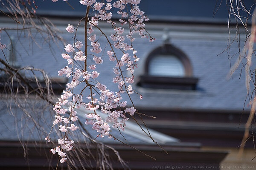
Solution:
M7 102L8 103L8 102ZM41 104L38 104L39 110L35 112L30 110L30 106L26 106L26 111L28 114L24 113L17 106L12 105L12 109L6 106L6 103L0 104L0 141L44 141L44 138L48 136L48 133L52 127L52 119L54 118L54 113L46 109ZM44 109L46 110L44 110ZM34 108L35 109L35 108ZM35 119L36 124L30 119L28 115L32 115L33 119ZM82 116L79 116L79 120L84 123L85 119ZM57 128L57 125L54 126L54 129ZM84 128L87 132L90 132L92 139L96 138L98 133L95 130L92 130L91 125L84 125ZM58 129L56 129L59 131ZM120 135L118 130L113 129L111 134L115 136L117 139L124 141L128 144L147 144L147 142L137 139L134 136L127 135L126 133L122 133ZM50 135L50 139L57 140L58 136L55 130L52 130ZM123 138L125 137L125 139ZM72 136L72 139L79 140L79 142L88 141L82 133L75 133ZM99 142L104 143L117 143L120 142L117 140L105 138L97 138L95 139Z

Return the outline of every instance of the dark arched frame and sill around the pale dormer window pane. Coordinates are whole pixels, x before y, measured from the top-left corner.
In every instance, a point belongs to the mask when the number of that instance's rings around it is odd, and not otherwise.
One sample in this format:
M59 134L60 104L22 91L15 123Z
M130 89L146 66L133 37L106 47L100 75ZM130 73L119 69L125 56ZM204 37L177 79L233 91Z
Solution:
M174 55L180 59L185 69L184 77L152 76L149 74L149 63L157 55ZM192 65L183 51L171 44L155 48L145 59L144 74L140 76L137 85L143 88L192 90L197 89L198 78L193 77Z

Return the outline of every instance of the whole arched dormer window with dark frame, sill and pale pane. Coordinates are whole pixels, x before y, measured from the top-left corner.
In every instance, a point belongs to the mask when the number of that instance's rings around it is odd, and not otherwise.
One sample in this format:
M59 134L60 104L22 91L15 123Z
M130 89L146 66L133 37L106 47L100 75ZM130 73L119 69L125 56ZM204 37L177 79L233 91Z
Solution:
M181 50L165 44L151 51L145 60L144 75L137 83L143 88L196 90L192 65Z

